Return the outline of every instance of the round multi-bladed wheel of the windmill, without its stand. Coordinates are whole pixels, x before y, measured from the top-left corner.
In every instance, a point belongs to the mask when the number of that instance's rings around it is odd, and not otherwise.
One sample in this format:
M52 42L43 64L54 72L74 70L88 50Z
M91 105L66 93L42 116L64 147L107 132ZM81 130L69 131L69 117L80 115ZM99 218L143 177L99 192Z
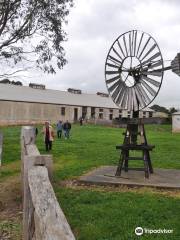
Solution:
M174 64L174 69L177 66ZM120 109L148 106L163 79L161 51L149 34L132 30L120 35L110 47L105 63L108 92Z

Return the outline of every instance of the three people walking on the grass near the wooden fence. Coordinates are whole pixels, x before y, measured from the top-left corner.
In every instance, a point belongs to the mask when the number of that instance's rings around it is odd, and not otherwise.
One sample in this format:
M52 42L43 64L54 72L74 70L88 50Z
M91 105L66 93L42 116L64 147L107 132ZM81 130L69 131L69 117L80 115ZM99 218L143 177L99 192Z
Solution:
M68 139L70 130L71 130L71 123L69 123L68 121L66 121L65 123L63 123L62 121L59 121L56 125L56 130L57 130L58 138L62 138L62 135L64 133L65 139ZM44 134L44 143L45 143L46 151L49 151L52 149L52 142L55 137L54 129L50 125L49 121L45 122L42 133Z

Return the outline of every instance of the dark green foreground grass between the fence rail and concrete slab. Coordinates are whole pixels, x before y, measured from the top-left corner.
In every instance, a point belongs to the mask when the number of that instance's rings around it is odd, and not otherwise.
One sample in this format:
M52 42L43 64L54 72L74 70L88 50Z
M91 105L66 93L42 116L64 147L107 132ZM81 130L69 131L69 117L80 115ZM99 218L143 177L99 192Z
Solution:
M141 239L179 239L179 199L133 192L96 192L56 189L68 220L79 240L138 239L137 226L173 229L173 236ZM147 237L147 238L146 238Z

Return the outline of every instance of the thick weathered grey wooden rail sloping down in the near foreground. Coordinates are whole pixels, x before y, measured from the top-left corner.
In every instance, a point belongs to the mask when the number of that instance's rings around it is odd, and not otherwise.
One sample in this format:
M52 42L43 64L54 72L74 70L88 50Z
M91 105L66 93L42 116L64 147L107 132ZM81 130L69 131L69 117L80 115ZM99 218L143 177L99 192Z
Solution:
M28 171L28 181L34 206L35 239L75 240L50 184L47 169L32 167Z

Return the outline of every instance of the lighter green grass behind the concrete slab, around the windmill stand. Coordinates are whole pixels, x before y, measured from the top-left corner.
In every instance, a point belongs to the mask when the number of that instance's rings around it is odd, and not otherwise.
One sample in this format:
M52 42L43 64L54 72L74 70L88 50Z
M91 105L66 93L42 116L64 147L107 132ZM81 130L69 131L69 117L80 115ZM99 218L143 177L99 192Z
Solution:
M70 140L57 139L54 142L55 178L72 178L100 165L116 165L119 152L115 146L122 143L123 132L123 129L101 126L73 126ZM149 143L156 146L151 154L153 166L180 169L177 144L180 134L172 134L170 126L154 125L147 126L147 136ZM38 137L37 144L40 151L45 153L41 138Z

